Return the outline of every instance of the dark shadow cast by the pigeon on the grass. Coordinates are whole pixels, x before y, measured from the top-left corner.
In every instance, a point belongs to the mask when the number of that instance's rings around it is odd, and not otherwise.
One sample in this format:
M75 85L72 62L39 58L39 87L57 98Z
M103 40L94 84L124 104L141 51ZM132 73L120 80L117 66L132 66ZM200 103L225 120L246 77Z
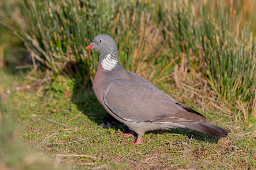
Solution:
M75 78L75 83L73 87L72 102L76 104L79 111L83 111L84 115L98 124L98 126L103 126L105 128L112 128L114 130L120 130L124 133L129 133L129 128L113 118L98 102L94 95L93 88L89 83L84 83L83 80L78 77ZM199 131L191 129L170 129L163 131L164 133L186 135L189 139L192 137L196 138L198 141L208 141L209 143L217 143L219 138L213 137L208 134L204 134ZM148 131L146 134L156 133L156 131Z

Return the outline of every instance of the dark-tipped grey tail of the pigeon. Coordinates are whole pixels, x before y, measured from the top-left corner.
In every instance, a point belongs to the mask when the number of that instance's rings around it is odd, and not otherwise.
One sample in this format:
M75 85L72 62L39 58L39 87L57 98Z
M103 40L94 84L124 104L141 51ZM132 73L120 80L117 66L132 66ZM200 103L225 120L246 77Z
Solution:
M206 133L208 135L212 135L218 138L225 138L228 133L230 133L229 130L219 127L215 124L211 124L209 122L206 123L179 123L189 129L197 130L203 133Z

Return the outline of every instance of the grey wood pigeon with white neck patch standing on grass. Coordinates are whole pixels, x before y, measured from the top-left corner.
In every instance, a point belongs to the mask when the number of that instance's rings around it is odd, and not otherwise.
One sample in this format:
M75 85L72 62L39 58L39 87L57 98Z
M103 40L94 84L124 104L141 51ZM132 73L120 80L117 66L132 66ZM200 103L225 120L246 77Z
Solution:
M224 138L229 130L207 122L205 116L172 98L149 80L125 70L119 62L116 43L100 34L86 50L99 51L99 62L93 80L93 91L110 115L126 124L130 133L117 133L142 143L146 131L188 128ZM142 143L143 144L143 143Z

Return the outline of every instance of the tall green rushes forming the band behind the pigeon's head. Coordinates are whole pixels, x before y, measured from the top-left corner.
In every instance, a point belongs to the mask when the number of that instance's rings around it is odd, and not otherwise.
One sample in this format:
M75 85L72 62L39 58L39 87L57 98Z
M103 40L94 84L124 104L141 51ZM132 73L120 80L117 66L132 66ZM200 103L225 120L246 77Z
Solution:
M92 80L98 54L85 48L104 33L127 70L147 63L157 65L154 74L168 75L170 62L185 57L189 71L203 72L225 100L251 103L256 116L255 0L24 0L19 8L16 35L56 73L69 64Z

